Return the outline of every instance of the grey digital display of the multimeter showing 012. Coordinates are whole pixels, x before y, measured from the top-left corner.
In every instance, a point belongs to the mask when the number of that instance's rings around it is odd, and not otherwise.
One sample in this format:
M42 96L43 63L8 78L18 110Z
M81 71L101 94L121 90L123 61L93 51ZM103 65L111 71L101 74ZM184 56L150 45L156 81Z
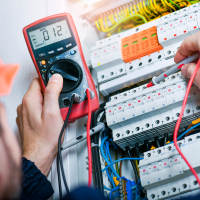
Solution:
M72 37L66 20L29 32L34 50Z

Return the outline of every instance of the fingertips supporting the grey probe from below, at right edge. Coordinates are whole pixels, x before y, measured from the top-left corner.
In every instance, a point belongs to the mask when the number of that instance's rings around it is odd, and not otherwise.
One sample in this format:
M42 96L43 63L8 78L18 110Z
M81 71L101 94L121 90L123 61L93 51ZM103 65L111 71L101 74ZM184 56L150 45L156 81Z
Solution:
M186 64L181 68L181 73L183 76L190 78L194 72L194 69L196 67L196 63L190 63ZM197 71L197 74L194 79L194 84L200 88L200 69Z

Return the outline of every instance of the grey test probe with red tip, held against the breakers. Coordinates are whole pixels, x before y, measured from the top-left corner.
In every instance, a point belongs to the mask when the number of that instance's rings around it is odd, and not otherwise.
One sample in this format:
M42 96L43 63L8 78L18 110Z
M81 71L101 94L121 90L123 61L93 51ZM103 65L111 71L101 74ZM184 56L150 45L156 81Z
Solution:
M167 78L168 76L178 72L181 67L185 64L191 63L195 60L197 60L199 58L199 53L196 53L188 58L186 58L185 60L181 61L180 63L174 65L173 67L171 67L169 70L167 70L166 72L163 72L162 74L160 74L159 76L154 76L152 78L152 81L150 83L147 84L147 87L152 87L156 84L159 84L161 81L163 81L165 78Z

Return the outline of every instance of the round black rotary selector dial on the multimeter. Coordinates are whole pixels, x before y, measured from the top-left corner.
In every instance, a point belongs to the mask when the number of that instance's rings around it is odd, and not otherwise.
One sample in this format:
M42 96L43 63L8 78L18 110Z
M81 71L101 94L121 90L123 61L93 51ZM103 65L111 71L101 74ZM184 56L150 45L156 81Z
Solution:
M75 90L82 81L83 72L79 64L71 59L62 59L53 63L47 71L47 80L53 74L60 74L63 77L63 89L61 93Z

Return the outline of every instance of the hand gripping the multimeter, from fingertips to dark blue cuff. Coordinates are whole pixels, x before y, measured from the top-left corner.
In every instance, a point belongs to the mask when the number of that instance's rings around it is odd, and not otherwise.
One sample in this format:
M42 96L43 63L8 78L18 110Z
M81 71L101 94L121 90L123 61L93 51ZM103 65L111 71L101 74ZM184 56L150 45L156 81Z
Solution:
M57 153L63 126L58 103L62 87L62 76L54 74L43 97L39 79L36 78L17 108L16 122L22 142L22 156L34 162L46 176Z

